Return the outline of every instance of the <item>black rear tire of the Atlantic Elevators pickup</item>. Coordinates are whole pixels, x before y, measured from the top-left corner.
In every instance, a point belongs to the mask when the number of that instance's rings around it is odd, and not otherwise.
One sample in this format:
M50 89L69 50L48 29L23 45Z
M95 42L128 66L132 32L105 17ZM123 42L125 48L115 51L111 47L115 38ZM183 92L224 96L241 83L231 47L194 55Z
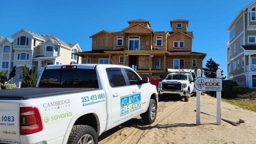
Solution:
M93 139L93 144L98 144L98 136L96 131L93 129L93 127L86 125L73 126L67 144L78 144L79 140L86 134L91 136L91 139Z

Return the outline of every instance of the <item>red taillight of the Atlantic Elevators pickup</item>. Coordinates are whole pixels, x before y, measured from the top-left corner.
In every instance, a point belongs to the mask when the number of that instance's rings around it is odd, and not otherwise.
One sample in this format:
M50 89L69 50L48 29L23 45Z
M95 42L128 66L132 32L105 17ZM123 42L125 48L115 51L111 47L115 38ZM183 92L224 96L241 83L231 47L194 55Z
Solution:
M43 130L40 113L36 107L20 107L20 135Z

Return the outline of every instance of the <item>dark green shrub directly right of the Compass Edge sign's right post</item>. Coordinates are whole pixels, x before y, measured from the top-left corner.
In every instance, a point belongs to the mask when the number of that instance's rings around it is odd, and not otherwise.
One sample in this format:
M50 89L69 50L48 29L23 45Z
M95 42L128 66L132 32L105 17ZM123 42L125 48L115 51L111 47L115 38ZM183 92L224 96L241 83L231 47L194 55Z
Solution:
M235 81L223 80L222 81L221 97L222 98L234 98L234 97L236 97L236 94L234 92L232 92L232 88L234 86L239 86L239 85Z

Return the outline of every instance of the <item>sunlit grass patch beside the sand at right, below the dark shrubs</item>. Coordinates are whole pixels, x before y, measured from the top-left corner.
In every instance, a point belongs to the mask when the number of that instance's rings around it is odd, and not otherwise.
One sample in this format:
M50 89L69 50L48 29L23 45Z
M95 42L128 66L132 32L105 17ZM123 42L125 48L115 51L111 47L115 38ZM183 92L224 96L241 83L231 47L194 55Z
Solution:
M253 112L256 112L256 100L242 101L242 100L227 100L227 99L222 98L221 101L225 101L225 102L233 104L237 107L241 107L243 109L248 109Z

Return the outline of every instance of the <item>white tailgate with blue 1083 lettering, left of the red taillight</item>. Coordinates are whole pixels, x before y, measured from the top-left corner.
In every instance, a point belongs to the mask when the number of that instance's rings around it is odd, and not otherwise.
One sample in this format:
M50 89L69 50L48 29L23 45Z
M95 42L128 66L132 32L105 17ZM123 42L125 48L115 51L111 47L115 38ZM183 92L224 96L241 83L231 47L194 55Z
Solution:
M0 143L20 144L20 100L0 100Z

